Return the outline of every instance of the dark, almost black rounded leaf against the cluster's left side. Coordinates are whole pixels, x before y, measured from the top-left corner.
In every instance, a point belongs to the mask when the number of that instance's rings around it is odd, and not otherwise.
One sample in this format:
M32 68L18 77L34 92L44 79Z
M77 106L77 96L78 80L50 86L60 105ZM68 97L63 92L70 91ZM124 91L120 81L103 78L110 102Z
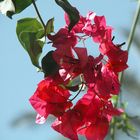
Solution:
M52 53L53 51L48 52L41 61L42 69L43 72L45 73L45 77L49 75L53 76L59 70L59 66L53 59Z

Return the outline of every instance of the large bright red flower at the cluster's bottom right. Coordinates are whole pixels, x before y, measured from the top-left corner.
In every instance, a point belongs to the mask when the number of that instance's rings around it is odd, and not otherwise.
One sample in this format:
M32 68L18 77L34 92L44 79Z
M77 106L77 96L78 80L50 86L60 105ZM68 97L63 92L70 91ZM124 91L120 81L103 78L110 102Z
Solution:
M91 89L78 101L74 110L81 114L84 122L77 132L85 135L87 140L104 140L108 134L110 118L123 112L114 108L110 101L99 98Z

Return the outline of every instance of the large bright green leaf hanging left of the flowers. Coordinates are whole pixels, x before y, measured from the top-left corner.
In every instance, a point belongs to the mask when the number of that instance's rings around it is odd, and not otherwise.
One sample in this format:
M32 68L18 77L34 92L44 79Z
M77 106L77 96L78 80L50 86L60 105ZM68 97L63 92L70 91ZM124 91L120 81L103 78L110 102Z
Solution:
M36 18L24 18L18 21L16 32L20 43L28 52L32 64L40 68L39 57L44 45L44 42L40 40L44 34L42 24Z

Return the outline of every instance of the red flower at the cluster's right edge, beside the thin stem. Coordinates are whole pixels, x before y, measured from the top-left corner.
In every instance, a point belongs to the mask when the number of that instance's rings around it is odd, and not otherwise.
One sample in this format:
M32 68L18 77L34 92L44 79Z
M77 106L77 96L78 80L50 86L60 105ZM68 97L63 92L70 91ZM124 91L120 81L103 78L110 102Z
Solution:
M128 68L128 52L121 50L119 45L114 45L110 39L102 42L99 49L103 55L108 57L107 66L115 73Z

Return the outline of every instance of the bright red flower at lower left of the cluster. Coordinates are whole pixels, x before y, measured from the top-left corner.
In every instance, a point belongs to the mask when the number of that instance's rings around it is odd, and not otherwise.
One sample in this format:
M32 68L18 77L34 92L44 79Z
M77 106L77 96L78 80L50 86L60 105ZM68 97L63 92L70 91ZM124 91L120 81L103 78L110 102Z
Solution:
M68 90L57 85L53 79L46 78L38 84L30 103L39 115L47 118L53 114L58 117L71 106L71 102L67 101L69 96Z

